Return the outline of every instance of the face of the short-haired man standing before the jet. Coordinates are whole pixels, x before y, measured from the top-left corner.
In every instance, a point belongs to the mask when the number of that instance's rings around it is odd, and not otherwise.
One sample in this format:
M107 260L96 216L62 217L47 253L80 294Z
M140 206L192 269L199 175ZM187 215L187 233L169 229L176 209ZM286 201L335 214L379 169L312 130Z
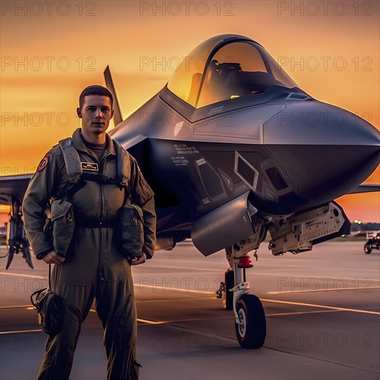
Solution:
M111 99L103 95L87 95L82 108L77 108L77 115L82 119L82 130L86 133L105 133L113 117Z

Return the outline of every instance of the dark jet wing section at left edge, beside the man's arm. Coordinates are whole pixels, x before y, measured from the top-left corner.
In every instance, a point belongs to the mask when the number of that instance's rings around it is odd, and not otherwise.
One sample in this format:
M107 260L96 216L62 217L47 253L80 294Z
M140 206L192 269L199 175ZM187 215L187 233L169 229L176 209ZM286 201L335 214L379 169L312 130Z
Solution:
M0 204L12 205L12 196L21 205L30 178L32 178L32 174L6 175L0 177Z

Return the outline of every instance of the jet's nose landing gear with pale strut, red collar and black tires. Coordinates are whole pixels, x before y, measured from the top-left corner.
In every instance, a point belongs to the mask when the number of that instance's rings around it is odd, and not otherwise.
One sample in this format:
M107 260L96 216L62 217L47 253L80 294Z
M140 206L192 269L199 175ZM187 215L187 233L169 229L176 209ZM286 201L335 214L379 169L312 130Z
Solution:
M267 331L265 311L260 299L254 294L248 294L249 283L245 276L245 269L253 265L243 250L236 251L234 247L229 247L226 249L226 256L230 268L225 275L223 303L227 310L231 306L234 310L235 332L240 346L260 348L264 344ZM257 259L256 253L255 257ZM232 268L234 270L231 270ZM231 285L234 286L230 287Z

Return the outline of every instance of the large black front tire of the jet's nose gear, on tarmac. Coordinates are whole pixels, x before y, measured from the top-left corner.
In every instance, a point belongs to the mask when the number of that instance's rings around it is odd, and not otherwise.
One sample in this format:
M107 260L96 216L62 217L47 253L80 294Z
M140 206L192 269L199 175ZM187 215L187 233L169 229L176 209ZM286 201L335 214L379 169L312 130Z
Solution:
M239 323L235 322L238 342L243 348L260 348L265 341L267 324L260 299L254 294L243 294L236 303Z

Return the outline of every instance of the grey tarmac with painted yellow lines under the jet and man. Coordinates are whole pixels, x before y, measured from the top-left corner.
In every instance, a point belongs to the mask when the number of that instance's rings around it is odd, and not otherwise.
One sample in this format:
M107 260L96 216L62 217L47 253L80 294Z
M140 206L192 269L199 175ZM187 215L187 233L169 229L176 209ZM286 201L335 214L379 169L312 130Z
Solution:
M380 254L364 242L327 242L274 257L263 243L247 270L251 293L267 315L260 350L240 348L232 311L216 289L227 260L207 258L190 241L133 267L139 319L140 380L380 379ZM0 256L6 253L1 247ZM35 379L46 335L30 294L47 284L48 267L21 254L8 271L0 260L0 379ZM106 379L96 312L82 325L70 379Z

